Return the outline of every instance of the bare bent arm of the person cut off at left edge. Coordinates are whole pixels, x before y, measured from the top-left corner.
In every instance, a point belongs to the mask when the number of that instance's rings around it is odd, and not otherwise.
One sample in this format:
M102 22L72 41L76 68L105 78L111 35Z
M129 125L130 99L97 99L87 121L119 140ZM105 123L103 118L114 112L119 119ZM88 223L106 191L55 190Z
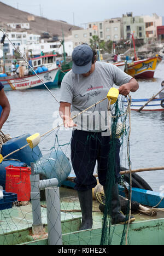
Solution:
M2 106L2 109L3 109L1 118L0 118L0 130L1 130L2 126L4 125L5 121L8 119L10 114L10 104L7 96L5 96L3 89L0 91L0 105Z

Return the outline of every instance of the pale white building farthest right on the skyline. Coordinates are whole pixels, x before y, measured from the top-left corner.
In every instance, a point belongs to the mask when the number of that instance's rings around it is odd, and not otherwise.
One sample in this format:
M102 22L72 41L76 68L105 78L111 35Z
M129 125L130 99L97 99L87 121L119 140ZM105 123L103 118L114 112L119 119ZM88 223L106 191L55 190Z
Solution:
M157 38L157 26L162 26L162 17L157 14L153 16L142 16L145 22L145 33L147 41Z

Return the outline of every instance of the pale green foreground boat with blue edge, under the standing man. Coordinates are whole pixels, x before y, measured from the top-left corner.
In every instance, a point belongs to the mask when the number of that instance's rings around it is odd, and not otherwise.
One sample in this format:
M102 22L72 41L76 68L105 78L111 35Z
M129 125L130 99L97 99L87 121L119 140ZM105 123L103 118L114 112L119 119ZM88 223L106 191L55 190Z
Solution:
M124 195L124 189L119 188ZM102 235L103 214L98 211L99 203L93 200L93 227L89 230L79 231L81 213L77 193L73 189L60 188L61 195L61 220L62 242L69 246L100 245ZM164 207L163 193L143 189L132 189L132 200L143 205L153 207L160 202L158 208ZM75 210L77 211L74 211ZM45 234L32 236L31 205L14 207L0 211L0 245L48 245L46 207L42 208L42 221ZM157 212L156 216L145 214L133 214L136 222L130 225L128 230L128 244L130 245L164 245L164 214ZM112 245L120 245L122 232L125 226L113 225L110 231L113 234ZM71 247L70 247L71 248Z

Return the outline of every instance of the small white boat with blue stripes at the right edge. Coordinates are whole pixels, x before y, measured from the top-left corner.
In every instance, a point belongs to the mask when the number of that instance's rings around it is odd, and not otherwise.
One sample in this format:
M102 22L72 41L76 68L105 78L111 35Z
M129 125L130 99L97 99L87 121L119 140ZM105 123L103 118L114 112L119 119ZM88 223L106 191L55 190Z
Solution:
M139 110L145 103L149 101L149 98L132 99L131 110ZM124 101L124 106L127 107L127 101ZM164 98L155 98L150 101L142 111L163 111L164 110Z

